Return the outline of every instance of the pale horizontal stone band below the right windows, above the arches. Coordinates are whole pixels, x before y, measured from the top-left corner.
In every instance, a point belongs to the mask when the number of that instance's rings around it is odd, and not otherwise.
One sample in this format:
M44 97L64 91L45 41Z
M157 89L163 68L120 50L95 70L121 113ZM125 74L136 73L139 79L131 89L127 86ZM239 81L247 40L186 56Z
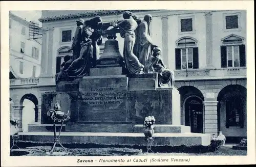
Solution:
M175 80L246 78L246 67L175 70Z

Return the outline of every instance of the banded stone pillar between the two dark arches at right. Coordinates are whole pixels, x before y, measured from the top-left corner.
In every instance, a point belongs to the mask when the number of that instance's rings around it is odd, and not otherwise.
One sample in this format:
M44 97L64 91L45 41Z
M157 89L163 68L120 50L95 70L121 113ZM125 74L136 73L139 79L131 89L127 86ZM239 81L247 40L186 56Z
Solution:
M204 123L207 134L218 134L217 104L218 101L204 101Z

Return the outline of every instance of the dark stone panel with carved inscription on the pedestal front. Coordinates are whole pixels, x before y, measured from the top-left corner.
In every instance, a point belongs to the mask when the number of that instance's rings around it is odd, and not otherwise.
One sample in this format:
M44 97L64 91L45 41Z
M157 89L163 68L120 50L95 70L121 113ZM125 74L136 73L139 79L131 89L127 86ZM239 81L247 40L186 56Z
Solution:
M79 121L125 122L127 78L95 78L86 81L79 89Z

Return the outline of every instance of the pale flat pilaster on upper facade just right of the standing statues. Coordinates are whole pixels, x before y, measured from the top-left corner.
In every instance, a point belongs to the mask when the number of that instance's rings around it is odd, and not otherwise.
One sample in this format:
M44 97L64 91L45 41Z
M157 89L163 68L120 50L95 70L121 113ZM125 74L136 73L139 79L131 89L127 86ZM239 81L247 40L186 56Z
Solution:
M162 59L164 65L169 68L168 58L168 16L162 17Z

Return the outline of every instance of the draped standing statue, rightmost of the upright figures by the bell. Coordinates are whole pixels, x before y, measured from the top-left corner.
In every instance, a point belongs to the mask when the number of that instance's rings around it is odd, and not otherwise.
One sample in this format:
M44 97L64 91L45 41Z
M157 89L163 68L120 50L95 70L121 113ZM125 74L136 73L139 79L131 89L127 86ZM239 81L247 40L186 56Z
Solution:
M137 28L137 40L133 48L133 52L139 58L141 64L145 65L148 56L151 54L151 46L153 45L150 37L150 23L152 16L147 14L144 16L144 20L139 24Z

